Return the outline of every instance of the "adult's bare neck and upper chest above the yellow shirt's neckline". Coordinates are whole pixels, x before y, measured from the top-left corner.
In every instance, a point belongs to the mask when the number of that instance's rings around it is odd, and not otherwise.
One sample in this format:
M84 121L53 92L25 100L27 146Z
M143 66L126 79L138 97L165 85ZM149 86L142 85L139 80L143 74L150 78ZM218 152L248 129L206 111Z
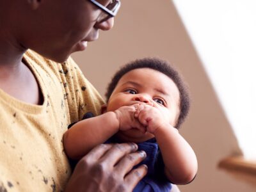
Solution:
M22 63L26 49L0 29L0 88L16 99L42 104L42 93L35 76Z

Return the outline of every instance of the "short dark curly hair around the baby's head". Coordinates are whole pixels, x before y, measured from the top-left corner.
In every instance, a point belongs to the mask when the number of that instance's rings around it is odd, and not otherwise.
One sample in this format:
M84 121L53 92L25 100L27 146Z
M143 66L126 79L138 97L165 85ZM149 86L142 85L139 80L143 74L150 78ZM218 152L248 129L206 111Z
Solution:
M184 119L188 115L188 111L189 111L190 97L189 97L188 87L184 83L179 72L173 66L171 66L170 63L168 63L167 61L161 60L159 58L143 58L140 60L132 61L131 63L124 65L124 67L121 67L113 76L113 78L111 79L111 82L108 85L108 89L105 94L107 102L109 100L109 97L115 90L116 84L122 78L122 76L124 76L124 74L127 74L127 72L134 70L136 68L151 68L153 70L157 70L165 74L166 76L170 77L170 79L172 79L172 81L176 84L180 93L180 104L179 104L180 115L175 127L179 128L180 124L184 122Z

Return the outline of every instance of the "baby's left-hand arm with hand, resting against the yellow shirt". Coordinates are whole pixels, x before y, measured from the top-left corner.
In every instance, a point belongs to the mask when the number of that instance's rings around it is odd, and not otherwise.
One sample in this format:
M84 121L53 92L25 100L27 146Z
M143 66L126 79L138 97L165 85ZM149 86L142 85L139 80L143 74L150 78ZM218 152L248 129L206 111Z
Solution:
M72 125L63 135L63 146L67 156L71 159L80 159L118 130L125 131L137 127L145 131L140 122L134 118L137 106L138 104L124 106L114 112L109 111Z

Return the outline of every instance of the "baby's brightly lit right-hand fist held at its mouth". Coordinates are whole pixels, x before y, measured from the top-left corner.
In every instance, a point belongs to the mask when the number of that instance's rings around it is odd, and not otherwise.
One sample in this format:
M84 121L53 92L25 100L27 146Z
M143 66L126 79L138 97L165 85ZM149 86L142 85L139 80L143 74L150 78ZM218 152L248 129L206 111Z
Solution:
M140 104L134 116L146 127L147 132L152 134L154 134L162 124L166 123L159 109L148 104Z

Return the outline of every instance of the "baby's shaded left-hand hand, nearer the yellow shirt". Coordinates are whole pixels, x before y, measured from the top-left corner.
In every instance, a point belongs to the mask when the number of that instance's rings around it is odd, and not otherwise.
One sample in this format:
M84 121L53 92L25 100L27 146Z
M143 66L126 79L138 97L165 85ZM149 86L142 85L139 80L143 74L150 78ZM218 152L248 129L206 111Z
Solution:
M141 132L146 132L145 127L135 118L134 113L139 108L140 104L133 104L131 106L123 106L116 109L114 112L119 121L120 131L127 131L132 128L139 129Z

